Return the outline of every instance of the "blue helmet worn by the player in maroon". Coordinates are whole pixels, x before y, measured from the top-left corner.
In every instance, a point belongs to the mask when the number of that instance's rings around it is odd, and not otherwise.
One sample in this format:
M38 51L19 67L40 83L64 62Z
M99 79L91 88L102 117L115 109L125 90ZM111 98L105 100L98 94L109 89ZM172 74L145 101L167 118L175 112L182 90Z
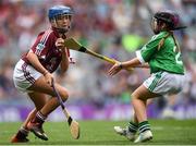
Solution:
M63 15L70 15L70 17L74 14L73 10L70 7L64 7L64 5L54 5L49 9L48 11L48 19L49 21L57 21L59 16ZM59 28L56 27L58 32L60 33L66 33L70 27L68 28Z

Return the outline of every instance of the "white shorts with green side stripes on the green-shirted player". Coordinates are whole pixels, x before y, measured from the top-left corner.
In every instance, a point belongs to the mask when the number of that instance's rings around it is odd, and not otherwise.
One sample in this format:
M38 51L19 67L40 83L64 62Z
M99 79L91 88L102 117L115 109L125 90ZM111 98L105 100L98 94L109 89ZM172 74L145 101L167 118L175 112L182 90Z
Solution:
M159 95L177 94L183 88L184 75L169 72L152 73L143 85Z

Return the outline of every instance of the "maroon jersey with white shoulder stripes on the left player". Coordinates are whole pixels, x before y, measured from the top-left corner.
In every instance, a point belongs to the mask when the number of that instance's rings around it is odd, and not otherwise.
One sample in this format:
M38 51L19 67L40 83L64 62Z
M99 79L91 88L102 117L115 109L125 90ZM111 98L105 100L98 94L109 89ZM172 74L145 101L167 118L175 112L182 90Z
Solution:
M37 36L35 44L30 48L30 51L37 54L42 66L45 66L50 73L58 69L62 60L62 52L56 47L56 40L58 38L58 33L54 29L49 28ZM27 64L30 64L26 59L26 54L27 53L23 54L22 60Z

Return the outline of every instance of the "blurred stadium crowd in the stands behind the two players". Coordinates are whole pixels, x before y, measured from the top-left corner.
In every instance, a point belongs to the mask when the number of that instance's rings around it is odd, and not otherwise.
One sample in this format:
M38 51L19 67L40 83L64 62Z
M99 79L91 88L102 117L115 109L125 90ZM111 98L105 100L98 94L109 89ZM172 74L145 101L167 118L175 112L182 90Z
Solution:
M89 49L130 60L150 39L151 15L158 10L176 10L187 29L176 32L186 66L183 92L154 99L149 118L196 119L196 1L195 0L0 0L0 122L22 121L34 108L25 94L13 86L13 69L29 50L40 31L50 27L47 10L65 4L75 11L69 37ZM107 75L111 64L82 52L71 51L76 61L64 77L57 80L69 89L65 106L78 120L130 120L131 94L149 76L146 69ZM61 121L61 109L49 120Z

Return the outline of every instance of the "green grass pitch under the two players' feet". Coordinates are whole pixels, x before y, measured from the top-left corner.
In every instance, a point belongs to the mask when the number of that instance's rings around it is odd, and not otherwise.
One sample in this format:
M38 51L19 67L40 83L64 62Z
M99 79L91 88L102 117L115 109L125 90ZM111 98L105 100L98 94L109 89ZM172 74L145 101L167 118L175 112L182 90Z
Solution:
M126 125L127 121L78 121L79 139L71 137L66 122L46 122L44 127L49 141L35 138L30 133L27 145L135 145L117 135L114 125ZM154 139L143 145L196 145L196 120L149 120ZM21 123L0 123L0 145L10 145L11 136Z

